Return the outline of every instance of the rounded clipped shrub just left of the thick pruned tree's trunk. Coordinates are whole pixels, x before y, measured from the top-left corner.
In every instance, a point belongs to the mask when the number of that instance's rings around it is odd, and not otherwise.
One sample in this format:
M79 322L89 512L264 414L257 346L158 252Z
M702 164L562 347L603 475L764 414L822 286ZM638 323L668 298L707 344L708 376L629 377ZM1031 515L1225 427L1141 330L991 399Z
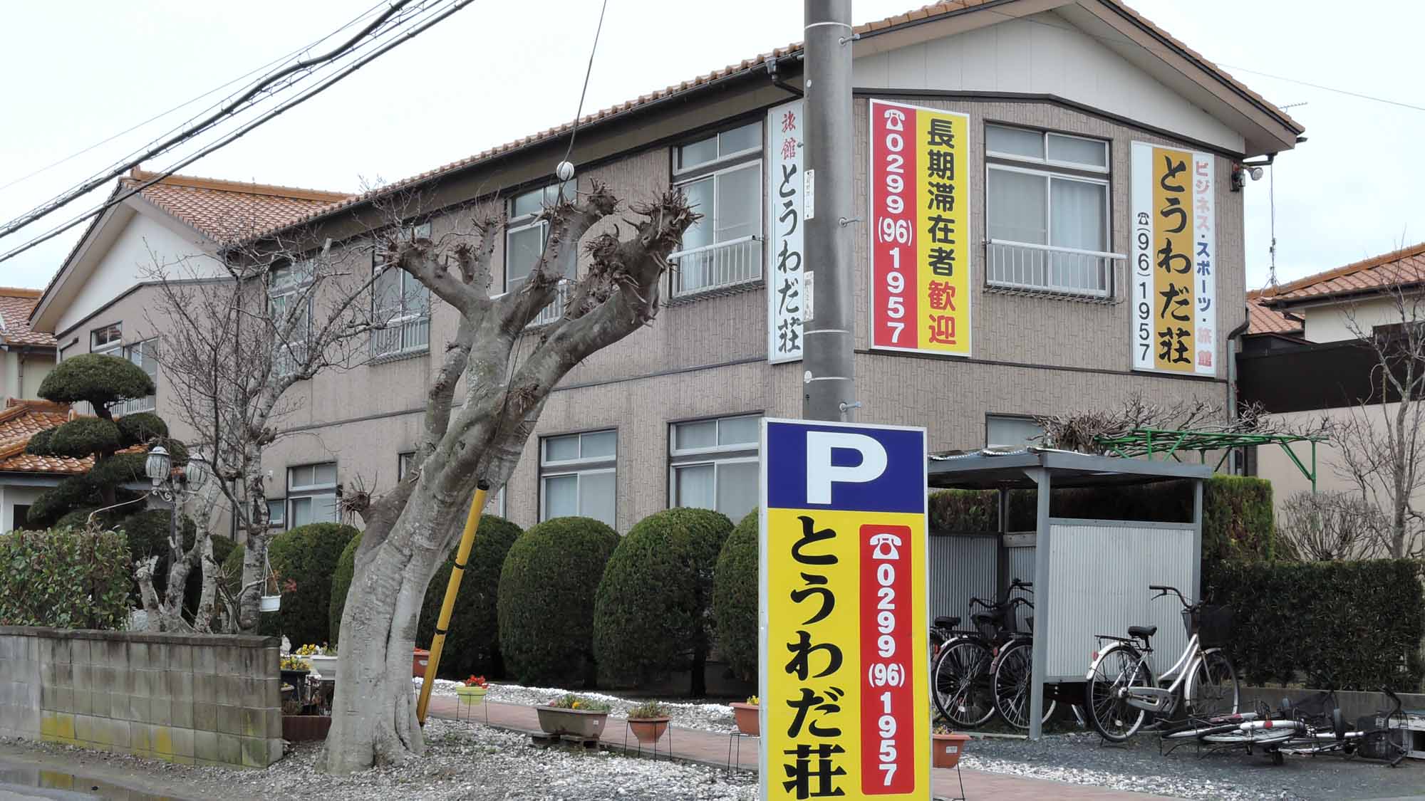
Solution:
M268 542L268 562L282 583L278 616L282 634L292 647L326 641L332 573L342 549L356 534L351 526L311 523L282 532Z

